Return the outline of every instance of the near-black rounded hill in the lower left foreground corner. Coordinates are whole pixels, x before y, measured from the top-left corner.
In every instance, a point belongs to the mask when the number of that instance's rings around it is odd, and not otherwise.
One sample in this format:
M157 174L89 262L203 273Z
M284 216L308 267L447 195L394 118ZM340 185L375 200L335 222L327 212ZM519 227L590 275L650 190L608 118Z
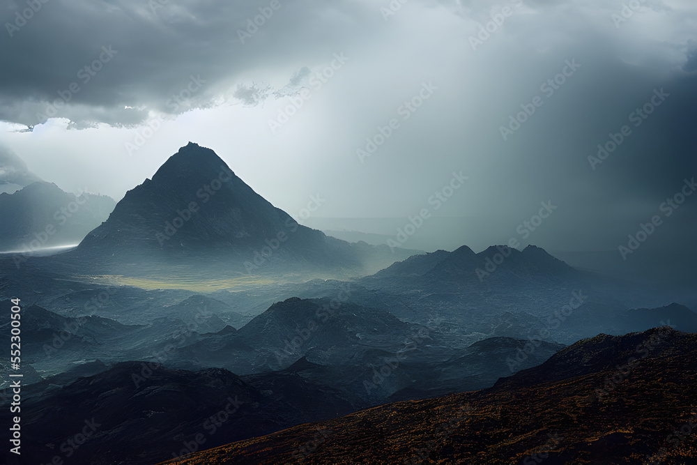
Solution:
M74 464L148 464L293 424L268 396L221 369L128 362L69 386L47 383L22 389L22 464L56 456ZM8 413L0 420L8 424ZM87 441L75 441L76 434Z

